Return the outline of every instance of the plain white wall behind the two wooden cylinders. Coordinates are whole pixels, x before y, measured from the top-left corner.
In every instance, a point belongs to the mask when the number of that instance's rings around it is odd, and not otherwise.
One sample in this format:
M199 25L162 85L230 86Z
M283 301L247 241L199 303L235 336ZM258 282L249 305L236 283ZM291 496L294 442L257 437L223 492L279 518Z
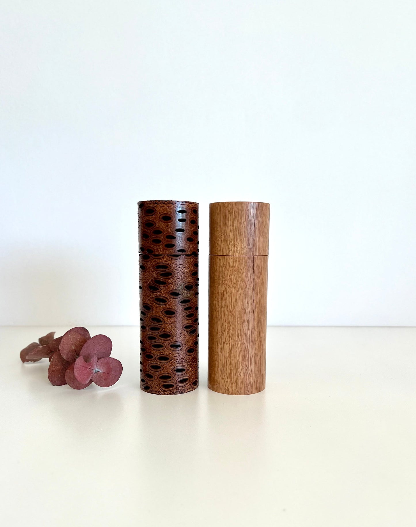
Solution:
M0 323L137 324L136 203L183 199L201 315L208 203L256 200L268 324L416 325L415 28L413 0L0 0Z

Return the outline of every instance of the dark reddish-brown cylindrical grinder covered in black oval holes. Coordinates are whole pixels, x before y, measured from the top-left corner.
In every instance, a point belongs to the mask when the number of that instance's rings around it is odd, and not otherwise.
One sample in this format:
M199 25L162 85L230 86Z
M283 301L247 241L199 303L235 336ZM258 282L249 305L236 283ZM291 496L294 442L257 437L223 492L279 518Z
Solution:
M141 389L191 392L198 386L198 203L138 206Z

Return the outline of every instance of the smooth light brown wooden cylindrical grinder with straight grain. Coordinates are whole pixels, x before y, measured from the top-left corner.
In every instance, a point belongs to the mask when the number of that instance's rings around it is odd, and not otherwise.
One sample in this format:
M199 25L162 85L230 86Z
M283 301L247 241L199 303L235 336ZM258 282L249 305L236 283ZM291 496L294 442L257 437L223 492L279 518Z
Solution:
M266 384L269 203L209 205L208 387L246 395Z

